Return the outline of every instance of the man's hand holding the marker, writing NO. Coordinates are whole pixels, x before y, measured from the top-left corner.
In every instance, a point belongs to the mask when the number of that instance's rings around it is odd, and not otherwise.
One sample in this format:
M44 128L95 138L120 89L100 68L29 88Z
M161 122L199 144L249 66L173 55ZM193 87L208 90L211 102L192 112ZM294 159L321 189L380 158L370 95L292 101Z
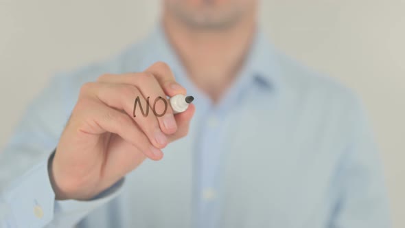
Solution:
M63 131L49 176L57 199L89 199L106 190L146 157L159 160L161 148L187 135L195 107L173 115L170 104L162 117L150 111L133 117L135 99L185 94L170 68L157 62L142 73L104 75L82 86ZM163 102L155 109L161 113ZM139 110L139 109L138 109ZM146 178L148 178L146 176Z

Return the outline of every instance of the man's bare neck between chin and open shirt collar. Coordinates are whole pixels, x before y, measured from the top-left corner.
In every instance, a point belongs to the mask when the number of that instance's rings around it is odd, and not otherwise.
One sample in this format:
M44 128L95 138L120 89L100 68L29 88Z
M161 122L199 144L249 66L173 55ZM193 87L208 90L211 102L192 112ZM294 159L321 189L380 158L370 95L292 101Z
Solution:
M256 29L254 12L224 30L199 30L165 12L163 27L187 75L217 102L244 63Z

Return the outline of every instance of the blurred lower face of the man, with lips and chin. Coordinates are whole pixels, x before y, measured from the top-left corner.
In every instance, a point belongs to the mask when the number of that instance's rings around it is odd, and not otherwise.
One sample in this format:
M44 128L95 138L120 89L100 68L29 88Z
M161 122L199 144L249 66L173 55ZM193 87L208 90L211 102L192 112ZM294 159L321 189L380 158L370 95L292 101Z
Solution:
M253 12L257 0L164 0L165 10L199 29L232 27Z

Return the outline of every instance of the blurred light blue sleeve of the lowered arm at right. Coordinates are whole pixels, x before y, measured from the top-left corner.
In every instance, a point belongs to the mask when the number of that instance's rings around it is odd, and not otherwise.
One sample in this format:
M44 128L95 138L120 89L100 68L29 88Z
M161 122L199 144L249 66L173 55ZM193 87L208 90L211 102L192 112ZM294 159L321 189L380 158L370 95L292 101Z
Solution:
M353 135L337 170L338 201L329 227L388 228L389 203L379 152L360 100L352 113L348 134Z

